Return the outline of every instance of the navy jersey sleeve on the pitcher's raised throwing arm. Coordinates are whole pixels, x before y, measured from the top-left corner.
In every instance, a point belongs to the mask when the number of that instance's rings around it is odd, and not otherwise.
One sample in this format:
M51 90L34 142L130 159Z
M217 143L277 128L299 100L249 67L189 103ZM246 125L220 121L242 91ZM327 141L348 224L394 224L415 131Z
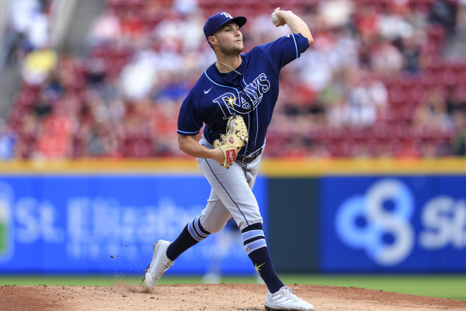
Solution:
M278 73L283 66L300 57L301 53L309 48L309 40L301 34L290 34L258 48L266 54L273 69Z

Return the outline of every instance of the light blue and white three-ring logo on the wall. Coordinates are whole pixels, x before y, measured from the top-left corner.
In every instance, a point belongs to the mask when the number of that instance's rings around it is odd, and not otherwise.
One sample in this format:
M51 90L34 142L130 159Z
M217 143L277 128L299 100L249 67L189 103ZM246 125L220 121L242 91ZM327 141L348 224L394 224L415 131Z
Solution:
M364 249L378 264L396 265L414 247L414 207L413 193L405 184L381 179L365 194L352 196L338 207L335 230L344 244Z

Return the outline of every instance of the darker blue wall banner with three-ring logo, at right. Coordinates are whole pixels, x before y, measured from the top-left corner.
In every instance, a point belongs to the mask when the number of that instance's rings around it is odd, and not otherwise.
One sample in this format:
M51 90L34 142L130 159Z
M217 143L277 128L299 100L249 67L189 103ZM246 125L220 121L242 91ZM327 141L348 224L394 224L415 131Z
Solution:
M466 176L321 179L323 272L466 272Z

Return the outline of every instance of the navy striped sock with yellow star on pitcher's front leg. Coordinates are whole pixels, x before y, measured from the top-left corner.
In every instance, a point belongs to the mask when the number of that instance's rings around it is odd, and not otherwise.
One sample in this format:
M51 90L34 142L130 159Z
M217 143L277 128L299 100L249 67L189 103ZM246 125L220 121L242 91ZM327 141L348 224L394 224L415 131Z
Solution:
M259 273L266 283L270 293L277 292L284 285L273 269L262 224L247 226L241 230L241 233L243 235L244 248L252 260L257 273Z

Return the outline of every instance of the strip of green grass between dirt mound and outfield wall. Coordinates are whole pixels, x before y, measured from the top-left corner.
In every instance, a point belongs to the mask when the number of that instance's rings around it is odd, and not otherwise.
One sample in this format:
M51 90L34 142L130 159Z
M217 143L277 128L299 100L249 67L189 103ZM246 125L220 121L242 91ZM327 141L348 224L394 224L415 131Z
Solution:
M285 284L361 287L404 294L466 300L466 275L280 275ZM0 285L113 286L141 284L141 276L5 276ZM223 283L256 283L252 276L225 276ZM201 276L164 276L159 284L202 283Z

